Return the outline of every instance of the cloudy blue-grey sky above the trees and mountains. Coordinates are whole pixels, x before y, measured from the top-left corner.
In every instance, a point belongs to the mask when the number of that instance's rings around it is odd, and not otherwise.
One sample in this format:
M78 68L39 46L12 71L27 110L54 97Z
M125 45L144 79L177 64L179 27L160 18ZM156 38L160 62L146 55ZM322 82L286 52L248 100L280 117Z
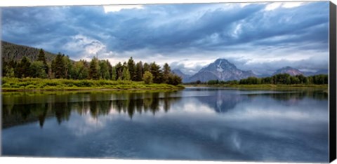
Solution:
M1 40L194 74L218 58L256 74L328 69L329 1L1 8Z

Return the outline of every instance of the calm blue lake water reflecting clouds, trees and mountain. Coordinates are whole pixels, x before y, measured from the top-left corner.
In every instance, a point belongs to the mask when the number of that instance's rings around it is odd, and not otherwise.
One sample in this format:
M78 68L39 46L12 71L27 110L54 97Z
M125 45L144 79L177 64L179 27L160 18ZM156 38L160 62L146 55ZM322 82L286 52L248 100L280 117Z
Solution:
M2 155L328 161L319 91L4 93Z

